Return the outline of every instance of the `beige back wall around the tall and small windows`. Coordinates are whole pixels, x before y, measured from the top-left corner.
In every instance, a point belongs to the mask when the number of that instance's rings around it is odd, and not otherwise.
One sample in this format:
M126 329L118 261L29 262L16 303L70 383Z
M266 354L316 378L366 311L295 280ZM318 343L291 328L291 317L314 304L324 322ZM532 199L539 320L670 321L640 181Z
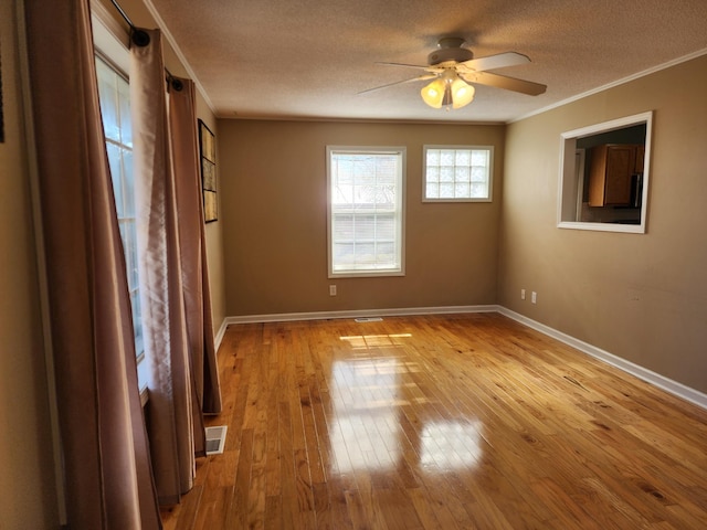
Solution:
M228 316L494 304L504 135L505 126L219 120ZM423 144L493 145L494 202L423 204ZM404 277L327 278L327 145L407 147Z

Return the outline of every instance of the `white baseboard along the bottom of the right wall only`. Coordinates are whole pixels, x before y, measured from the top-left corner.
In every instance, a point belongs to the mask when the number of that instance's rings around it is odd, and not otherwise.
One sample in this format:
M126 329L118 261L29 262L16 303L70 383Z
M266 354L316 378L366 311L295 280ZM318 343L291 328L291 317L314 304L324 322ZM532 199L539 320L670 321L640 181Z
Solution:
M677 398L680 398L685 401L689 401L690 403L701 407L707 409L707 394L704 394L695 389L692 389L683 383L678 383L677 381L673 381L659 373L656 373L647 368L643 368L640 364L635 364L631 361L626 361L621 357L616 357L613 353L609 353L601 348L597 348L588 342L576 339L567 333L558 331L557 329L550 328L544 324L540 324L536 320L532 320L528 317L525 317L518 312L511 311L503 306L498 306L498 312L505 315L508 318L516 320L529 328L535 329L536 331L540 331L548 337L552 337L553 339L559 340L560 342L564 342L566 344L571 346L572 348L581 351L582 353L587 353L594 359L599 359L600 361L605 362L606 364L611 364L624 372L630 373L631 375L635 375L636 378L657 386Z

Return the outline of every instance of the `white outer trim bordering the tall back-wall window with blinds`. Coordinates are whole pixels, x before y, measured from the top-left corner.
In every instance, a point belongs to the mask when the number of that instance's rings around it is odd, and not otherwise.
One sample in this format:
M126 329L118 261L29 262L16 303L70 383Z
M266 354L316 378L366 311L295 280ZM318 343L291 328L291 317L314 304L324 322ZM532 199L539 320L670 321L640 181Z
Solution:
M334 271L334 256L331 254L331 153L395 153L400 155L400 193L398 195L398 210L400 212L400 223L398 225L398 236L400 237L400 268L395 271ZM405 275L405 176L408 149L405 147L390 146L327 146L326 168L327 168L327 266L329 278L360 278L360 277L382 277L382 276L404 276Z

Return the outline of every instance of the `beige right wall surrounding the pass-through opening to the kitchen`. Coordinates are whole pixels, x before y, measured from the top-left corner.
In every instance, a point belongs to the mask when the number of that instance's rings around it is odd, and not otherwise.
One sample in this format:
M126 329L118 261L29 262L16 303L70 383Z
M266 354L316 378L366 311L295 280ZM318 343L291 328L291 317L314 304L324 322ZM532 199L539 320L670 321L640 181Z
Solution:
M707 56L509 125L498 303L707 392ZM559 230L560 134L654 110L647 233ZM536 290L538 304L520 300Z

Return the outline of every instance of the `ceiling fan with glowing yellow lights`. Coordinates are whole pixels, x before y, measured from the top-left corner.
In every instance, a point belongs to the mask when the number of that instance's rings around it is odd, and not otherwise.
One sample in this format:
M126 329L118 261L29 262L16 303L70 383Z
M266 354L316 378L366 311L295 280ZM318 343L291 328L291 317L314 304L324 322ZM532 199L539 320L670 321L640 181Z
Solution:
M387 85L369 88L359 94L388 88L393 85L416 81L431 81L420 94L424 103L434 108L445 106L447 109L461 108L474 99L474 86L471 83L494 86L506 91L519 92L530 96L545 93L547 86L530 81L517 80L505 75L487 72L489 70L517 66L530 62L528 56L516 52L499 53L486 57L474 59L474 53L462 47L464 39L446 36L437 42L437 50L428 55L428 65L403 63L377 63L390 66L403 66L426 72L411 80L398 81Z

